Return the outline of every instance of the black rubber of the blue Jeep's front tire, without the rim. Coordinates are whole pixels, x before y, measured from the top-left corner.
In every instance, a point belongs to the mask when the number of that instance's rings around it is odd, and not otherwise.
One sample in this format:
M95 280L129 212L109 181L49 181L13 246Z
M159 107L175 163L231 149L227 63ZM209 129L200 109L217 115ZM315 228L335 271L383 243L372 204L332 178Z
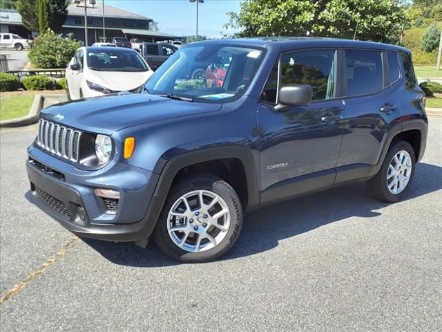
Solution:
M169 210L180 197L194 190L208 190L218 194L227 203L231 216L231 225L227 234L215 247L202 252L189 252L179 248L169 236L167 223ZM229 251L235 244L242 228L242 205L235 190L229 183L211 174L195 176L173 185L164 203L160 218L157 221L153 237L160 249L171 259L187 263L202 263L217 259Z

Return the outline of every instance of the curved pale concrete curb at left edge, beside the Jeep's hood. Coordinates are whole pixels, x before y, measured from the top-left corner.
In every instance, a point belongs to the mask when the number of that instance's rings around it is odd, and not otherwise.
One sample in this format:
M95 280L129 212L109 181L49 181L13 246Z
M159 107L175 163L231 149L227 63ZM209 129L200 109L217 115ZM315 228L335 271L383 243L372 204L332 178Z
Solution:
M32 106L27 116L22 118L11 119L0 121L0 128L14 128L14 127L24 127L30 124L35 124L39 121L40 111L44 107L50 106L50 104L56 104L57 102L64 102L66 100L65 95L35 95ZM48 104L45 105L45 101Z

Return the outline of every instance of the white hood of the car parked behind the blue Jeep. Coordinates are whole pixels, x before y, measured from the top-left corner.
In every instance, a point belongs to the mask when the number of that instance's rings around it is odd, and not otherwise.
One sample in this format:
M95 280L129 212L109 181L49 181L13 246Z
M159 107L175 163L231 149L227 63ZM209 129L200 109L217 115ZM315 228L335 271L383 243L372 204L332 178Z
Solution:
M89 70L86 80L104 86L112 91L127 91L144 84L153 71L93 71Z

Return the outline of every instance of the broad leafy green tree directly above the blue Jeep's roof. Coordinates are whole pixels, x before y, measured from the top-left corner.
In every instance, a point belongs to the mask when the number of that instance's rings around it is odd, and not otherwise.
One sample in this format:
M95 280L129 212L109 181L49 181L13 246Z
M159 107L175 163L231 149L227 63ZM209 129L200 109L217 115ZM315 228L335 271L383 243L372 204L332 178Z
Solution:
M312 35L398 42L407 22L402 0L247 0L224 28L239 36Z

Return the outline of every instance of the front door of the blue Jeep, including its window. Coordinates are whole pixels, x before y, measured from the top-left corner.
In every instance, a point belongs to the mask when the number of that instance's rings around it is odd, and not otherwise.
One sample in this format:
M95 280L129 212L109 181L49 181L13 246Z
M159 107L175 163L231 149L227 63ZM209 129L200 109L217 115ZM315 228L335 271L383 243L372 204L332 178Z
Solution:
M340 62L336 49L294 50L280 55L258 106L262 203L334 183L343 135ZM287 84L313 89L308 106L278 105Z

